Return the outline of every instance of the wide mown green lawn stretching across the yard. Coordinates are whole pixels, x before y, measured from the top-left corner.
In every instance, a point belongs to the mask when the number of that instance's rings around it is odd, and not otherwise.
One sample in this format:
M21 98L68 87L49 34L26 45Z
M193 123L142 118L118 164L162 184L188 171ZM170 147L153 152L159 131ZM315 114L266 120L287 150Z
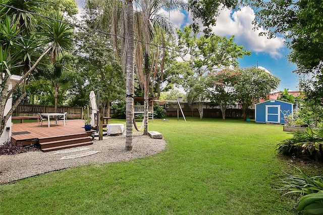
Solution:
M276 190L292 171L274 150L291 136L281 125L171 118L148 129L163 133L166 150L0 186L0 213L295 214L295 198Z

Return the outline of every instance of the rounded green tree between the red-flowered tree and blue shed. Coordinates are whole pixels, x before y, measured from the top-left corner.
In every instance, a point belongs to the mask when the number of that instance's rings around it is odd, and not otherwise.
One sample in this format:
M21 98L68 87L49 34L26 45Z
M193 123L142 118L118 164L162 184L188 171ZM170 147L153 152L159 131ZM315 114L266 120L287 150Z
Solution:
M239 69L238 72L240 75L234 87L242 105L243 120L246 121L249 106L276 90L280 79L256 67Z

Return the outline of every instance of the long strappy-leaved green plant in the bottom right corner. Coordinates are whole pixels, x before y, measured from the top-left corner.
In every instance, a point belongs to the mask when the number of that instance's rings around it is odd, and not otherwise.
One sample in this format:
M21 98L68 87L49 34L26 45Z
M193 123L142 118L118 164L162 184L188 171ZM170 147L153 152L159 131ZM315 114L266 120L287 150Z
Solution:
M289 175L282 179L282 188L288 190L286 194L293 193L301 196L297 210L305 211L309 214L323 213L323 178L321 176L309 177L301 169L295 167L298 175Z

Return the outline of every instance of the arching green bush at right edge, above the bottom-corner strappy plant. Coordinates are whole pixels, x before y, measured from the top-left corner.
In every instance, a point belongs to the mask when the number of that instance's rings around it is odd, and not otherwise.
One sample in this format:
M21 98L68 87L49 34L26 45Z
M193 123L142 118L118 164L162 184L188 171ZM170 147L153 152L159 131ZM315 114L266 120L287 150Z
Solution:
M321 160L323 154L323 132L307 127L304 132L295 132L290 139L280 141L276 145L280 154Z

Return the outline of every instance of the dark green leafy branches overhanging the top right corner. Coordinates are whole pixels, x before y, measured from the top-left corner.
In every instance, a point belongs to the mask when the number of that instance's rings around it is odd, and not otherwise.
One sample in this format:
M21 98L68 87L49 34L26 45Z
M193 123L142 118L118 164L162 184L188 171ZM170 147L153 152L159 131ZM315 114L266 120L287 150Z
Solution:
M253 0L255 24L264 27L268 36L280 35L291 48L289 60L309 73L323 59L323 1L316 0Z

